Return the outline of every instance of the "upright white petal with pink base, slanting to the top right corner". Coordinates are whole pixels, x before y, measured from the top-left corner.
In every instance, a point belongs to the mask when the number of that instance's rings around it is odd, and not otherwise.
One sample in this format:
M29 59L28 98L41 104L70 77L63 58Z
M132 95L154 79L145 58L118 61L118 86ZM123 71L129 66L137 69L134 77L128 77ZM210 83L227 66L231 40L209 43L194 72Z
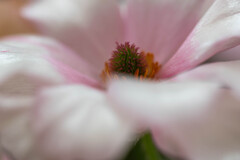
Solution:
M161 77L191 69L214 54L240 44L239 11L238 0L215 1L181 48L163 67Z

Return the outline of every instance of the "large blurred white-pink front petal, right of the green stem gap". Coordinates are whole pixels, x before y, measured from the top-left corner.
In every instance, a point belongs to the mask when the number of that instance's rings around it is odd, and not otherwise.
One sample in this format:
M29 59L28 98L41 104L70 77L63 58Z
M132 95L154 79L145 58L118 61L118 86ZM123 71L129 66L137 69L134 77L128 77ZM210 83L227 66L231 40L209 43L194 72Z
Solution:
M159 84L115 82L109 97L174 157L237 160L239 73L240 61L207 64Z

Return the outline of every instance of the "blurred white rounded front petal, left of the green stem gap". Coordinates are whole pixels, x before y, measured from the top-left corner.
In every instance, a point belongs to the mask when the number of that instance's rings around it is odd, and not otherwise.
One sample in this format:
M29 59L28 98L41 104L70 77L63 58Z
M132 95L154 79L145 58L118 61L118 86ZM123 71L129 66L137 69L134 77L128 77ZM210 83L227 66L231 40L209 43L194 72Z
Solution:
M41 92L33 126L39 150L52 159L116 159L131 142L130 124L86 86Z

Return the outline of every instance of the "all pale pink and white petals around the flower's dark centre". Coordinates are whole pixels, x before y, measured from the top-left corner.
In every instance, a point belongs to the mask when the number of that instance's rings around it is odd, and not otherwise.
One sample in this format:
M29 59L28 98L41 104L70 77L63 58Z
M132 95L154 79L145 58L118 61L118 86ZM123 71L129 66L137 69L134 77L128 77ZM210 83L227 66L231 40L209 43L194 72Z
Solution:
M109 159L129 141L133 119L172 156L239 159L240 62L195 68L240 43L239 11L238 0L30 4L25 17L78 54L44 38L2 40L1 145L20 159ZM100 90L116 41L154 53L159 81Z

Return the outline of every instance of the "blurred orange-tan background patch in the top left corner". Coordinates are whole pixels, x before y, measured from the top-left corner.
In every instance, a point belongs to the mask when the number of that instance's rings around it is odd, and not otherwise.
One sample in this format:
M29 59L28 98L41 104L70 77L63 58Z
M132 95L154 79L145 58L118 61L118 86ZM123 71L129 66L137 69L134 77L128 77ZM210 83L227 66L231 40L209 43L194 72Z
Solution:
M20 16L20 9L29 0L0 0L0 37L33 33L34 29Z

